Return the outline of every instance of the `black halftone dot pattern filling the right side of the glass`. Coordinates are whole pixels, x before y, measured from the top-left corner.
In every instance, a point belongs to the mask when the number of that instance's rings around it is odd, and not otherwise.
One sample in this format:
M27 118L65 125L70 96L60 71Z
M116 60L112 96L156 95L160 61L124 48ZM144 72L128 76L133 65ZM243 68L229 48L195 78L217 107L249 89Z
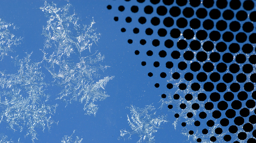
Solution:
M115 16L114 21L135 22L129 31L134 35L152 36L150 41L142 38L127 40L129 44L138 40L141 46L157 47L144 53L136 49L135 55L169 60L149 65L148 59L143 59L141 66L162 70L160 73L148 72L148 76L167 78L167 83L153 83L152 86L166 88L160 91L160 97L167 103L166 110L180 108L174 118L186 119L177 123L187 129L185 134L195 135L192 129L197 127L202 128L196 135L197 142L203 139L255 143L255 2L150 0L147 3L137 0L130 3L133 6L124 7L124 3L117 9L119 12L131 11L131 16ZM107 9L112 6L108 5ZM135 15L139 11L143 14ZM139 25L144 28L138 28ZM125 27L120 29L121 32L126 30Z

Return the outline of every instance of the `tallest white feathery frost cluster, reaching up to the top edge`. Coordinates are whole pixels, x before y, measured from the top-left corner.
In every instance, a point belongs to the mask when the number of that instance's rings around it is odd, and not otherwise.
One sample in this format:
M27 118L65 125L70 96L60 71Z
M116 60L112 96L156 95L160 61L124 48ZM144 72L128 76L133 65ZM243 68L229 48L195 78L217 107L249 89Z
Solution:
M104 59L100 53L90 53L100 35L94 32L95 22L89 26L78 24L76 14L69 14L70 8L70 4L57 8L47 2L41 7L49 19L43 28L45 68L51 73L54 85L62 89L56 99L84 103L86 114L95 115L98 107L94 102L108 97L103 90L113 77L99 79L100 72L108 66L100 65Z

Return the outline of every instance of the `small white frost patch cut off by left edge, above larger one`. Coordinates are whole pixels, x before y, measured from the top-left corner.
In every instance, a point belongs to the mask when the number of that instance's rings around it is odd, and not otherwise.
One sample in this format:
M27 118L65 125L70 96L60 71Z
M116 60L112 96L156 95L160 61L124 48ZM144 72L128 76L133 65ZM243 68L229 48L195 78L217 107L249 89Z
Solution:
M10 28L16 29L13 24L8 24L0 19L0 57L1 60L7 56L9 52L13 51L13 46L20 44L21 38L15 37L9 31Z

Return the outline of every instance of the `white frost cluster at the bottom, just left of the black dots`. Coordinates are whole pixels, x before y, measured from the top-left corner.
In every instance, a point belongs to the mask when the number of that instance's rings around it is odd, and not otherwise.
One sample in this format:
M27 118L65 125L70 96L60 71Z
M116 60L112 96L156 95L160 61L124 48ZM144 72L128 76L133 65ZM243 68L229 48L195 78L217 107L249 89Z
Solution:
M132 131L120 130L121 137L129 135L128 139L130 139L131 135L137 134L140 137L138 143L143 141L149 143L154 142L155 136L153 136L153 134L157 132L156 129L160 128L162 122L167 122L167 120L165 120L166 116L162 115L157 117L156 111L153 112L155 108L152 105L146 105L145 108L138 108L131 105L128 108L131 110L132 115L131 118L127 115L128 123L132 128Z

